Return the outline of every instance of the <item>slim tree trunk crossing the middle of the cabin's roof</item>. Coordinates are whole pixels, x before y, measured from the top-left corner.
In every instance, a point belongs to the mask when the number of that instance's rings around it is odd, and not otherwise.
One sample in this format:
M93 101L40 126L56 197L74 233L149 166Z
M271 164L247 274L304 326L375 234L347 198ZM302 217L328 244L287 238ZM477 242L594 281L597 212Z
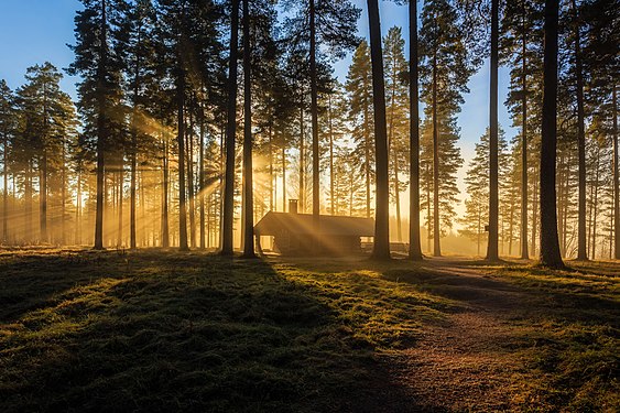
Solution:
M315 0L309 0L309 29L311 29L311 115L312 115L312 224L314 230L314 252L318 251L320 233L320 188L318 164L318 88L316 74L316 10Z

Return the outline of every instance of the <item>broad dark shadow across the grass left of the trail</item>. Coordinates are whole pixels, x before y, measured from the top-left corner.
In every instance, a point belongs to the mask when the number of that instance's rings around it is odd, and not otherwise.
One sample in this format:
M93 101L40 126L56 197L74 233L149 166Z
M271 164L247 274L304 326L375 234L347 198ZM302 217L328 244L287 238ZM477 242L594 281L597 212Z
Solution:
M374 394L372 344L318 289L265 262L134 254L73 290L81 267L45 265L66 280L0 335L0 411L374 412L404 400L396 387Z

